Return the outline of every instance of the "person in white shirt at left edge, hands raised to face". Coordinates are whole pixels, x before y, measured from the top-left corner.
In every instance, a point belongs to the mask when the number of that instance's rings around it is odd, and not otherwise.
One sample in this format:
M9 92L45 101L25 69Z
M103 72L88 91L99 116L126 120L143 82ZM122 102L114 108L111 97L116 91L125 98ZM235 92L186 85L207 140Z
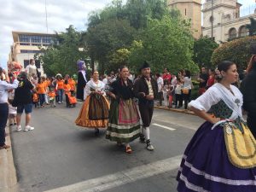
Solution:
M5 76L5 80L3 79L3 76ZM8 91L17 88L19 84L15 79L15 74L13 77L13 84L9 84L8 73L0 67L0 149L10 148L9 145L5 144L5 126L9 116Z

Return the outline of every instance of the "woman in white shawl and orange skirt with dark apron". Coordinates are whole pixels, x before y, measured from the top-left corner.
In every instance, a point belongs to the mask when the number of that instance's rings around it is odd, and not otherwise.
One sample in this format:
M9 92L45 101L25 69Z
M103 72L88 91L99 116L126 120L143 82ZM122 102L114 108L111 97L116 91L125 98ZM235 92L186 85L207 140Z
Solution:
M99 73L95 71L92 79L85 86L85 101L80 110L76 125L94 128L95 134L99 134L99 128L108 125L109 103L105 98L105 84L99 80Z

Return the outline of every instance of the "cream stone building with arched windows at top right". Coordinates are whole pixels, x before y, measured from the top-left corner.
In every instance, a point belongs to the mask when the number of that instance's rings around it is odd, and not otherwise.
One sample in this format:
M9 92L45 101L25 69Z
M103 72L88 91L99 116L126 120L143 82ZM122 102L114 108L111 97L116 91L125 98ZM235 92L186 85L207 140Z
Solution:
M248 35L246 25L256 14L240 16L241 4L237 0L207 0L203 4L203 36L214 38L220 44Z

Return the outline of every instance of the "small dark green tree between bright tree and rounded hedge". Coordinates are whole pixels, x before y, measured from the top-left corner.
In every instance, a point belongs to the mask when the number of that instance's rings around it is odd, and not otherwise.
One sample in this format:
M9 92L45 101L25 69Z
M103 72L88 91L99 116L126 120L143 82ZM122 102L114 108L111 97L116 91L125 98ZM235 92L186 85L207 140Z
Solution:
M212 38L201 37L195 41L194 44L194 55L193 61L198 64L201 68L202 66L211 67L212 66L212 53L214 49L218 48L218 44L212 40Z

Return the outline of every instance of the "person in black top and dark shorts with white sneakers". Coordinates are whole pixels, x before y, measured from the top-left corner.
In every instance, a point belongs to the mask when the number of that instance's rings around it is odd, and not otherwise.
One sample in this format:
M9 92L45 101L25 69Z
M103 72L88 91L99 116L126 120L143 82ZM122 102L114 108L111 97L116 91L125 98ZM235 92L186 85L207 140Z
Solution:
M23 131L32 131L34 127L30 126L31 113L32 113L32 90L34 90L34 86L27 79L27 73L20 73L19 77L19 86L15 90L15 99L13 102L13 106L17 106L17 131L21 131L21 116L23 111L26 113L26 124Z

